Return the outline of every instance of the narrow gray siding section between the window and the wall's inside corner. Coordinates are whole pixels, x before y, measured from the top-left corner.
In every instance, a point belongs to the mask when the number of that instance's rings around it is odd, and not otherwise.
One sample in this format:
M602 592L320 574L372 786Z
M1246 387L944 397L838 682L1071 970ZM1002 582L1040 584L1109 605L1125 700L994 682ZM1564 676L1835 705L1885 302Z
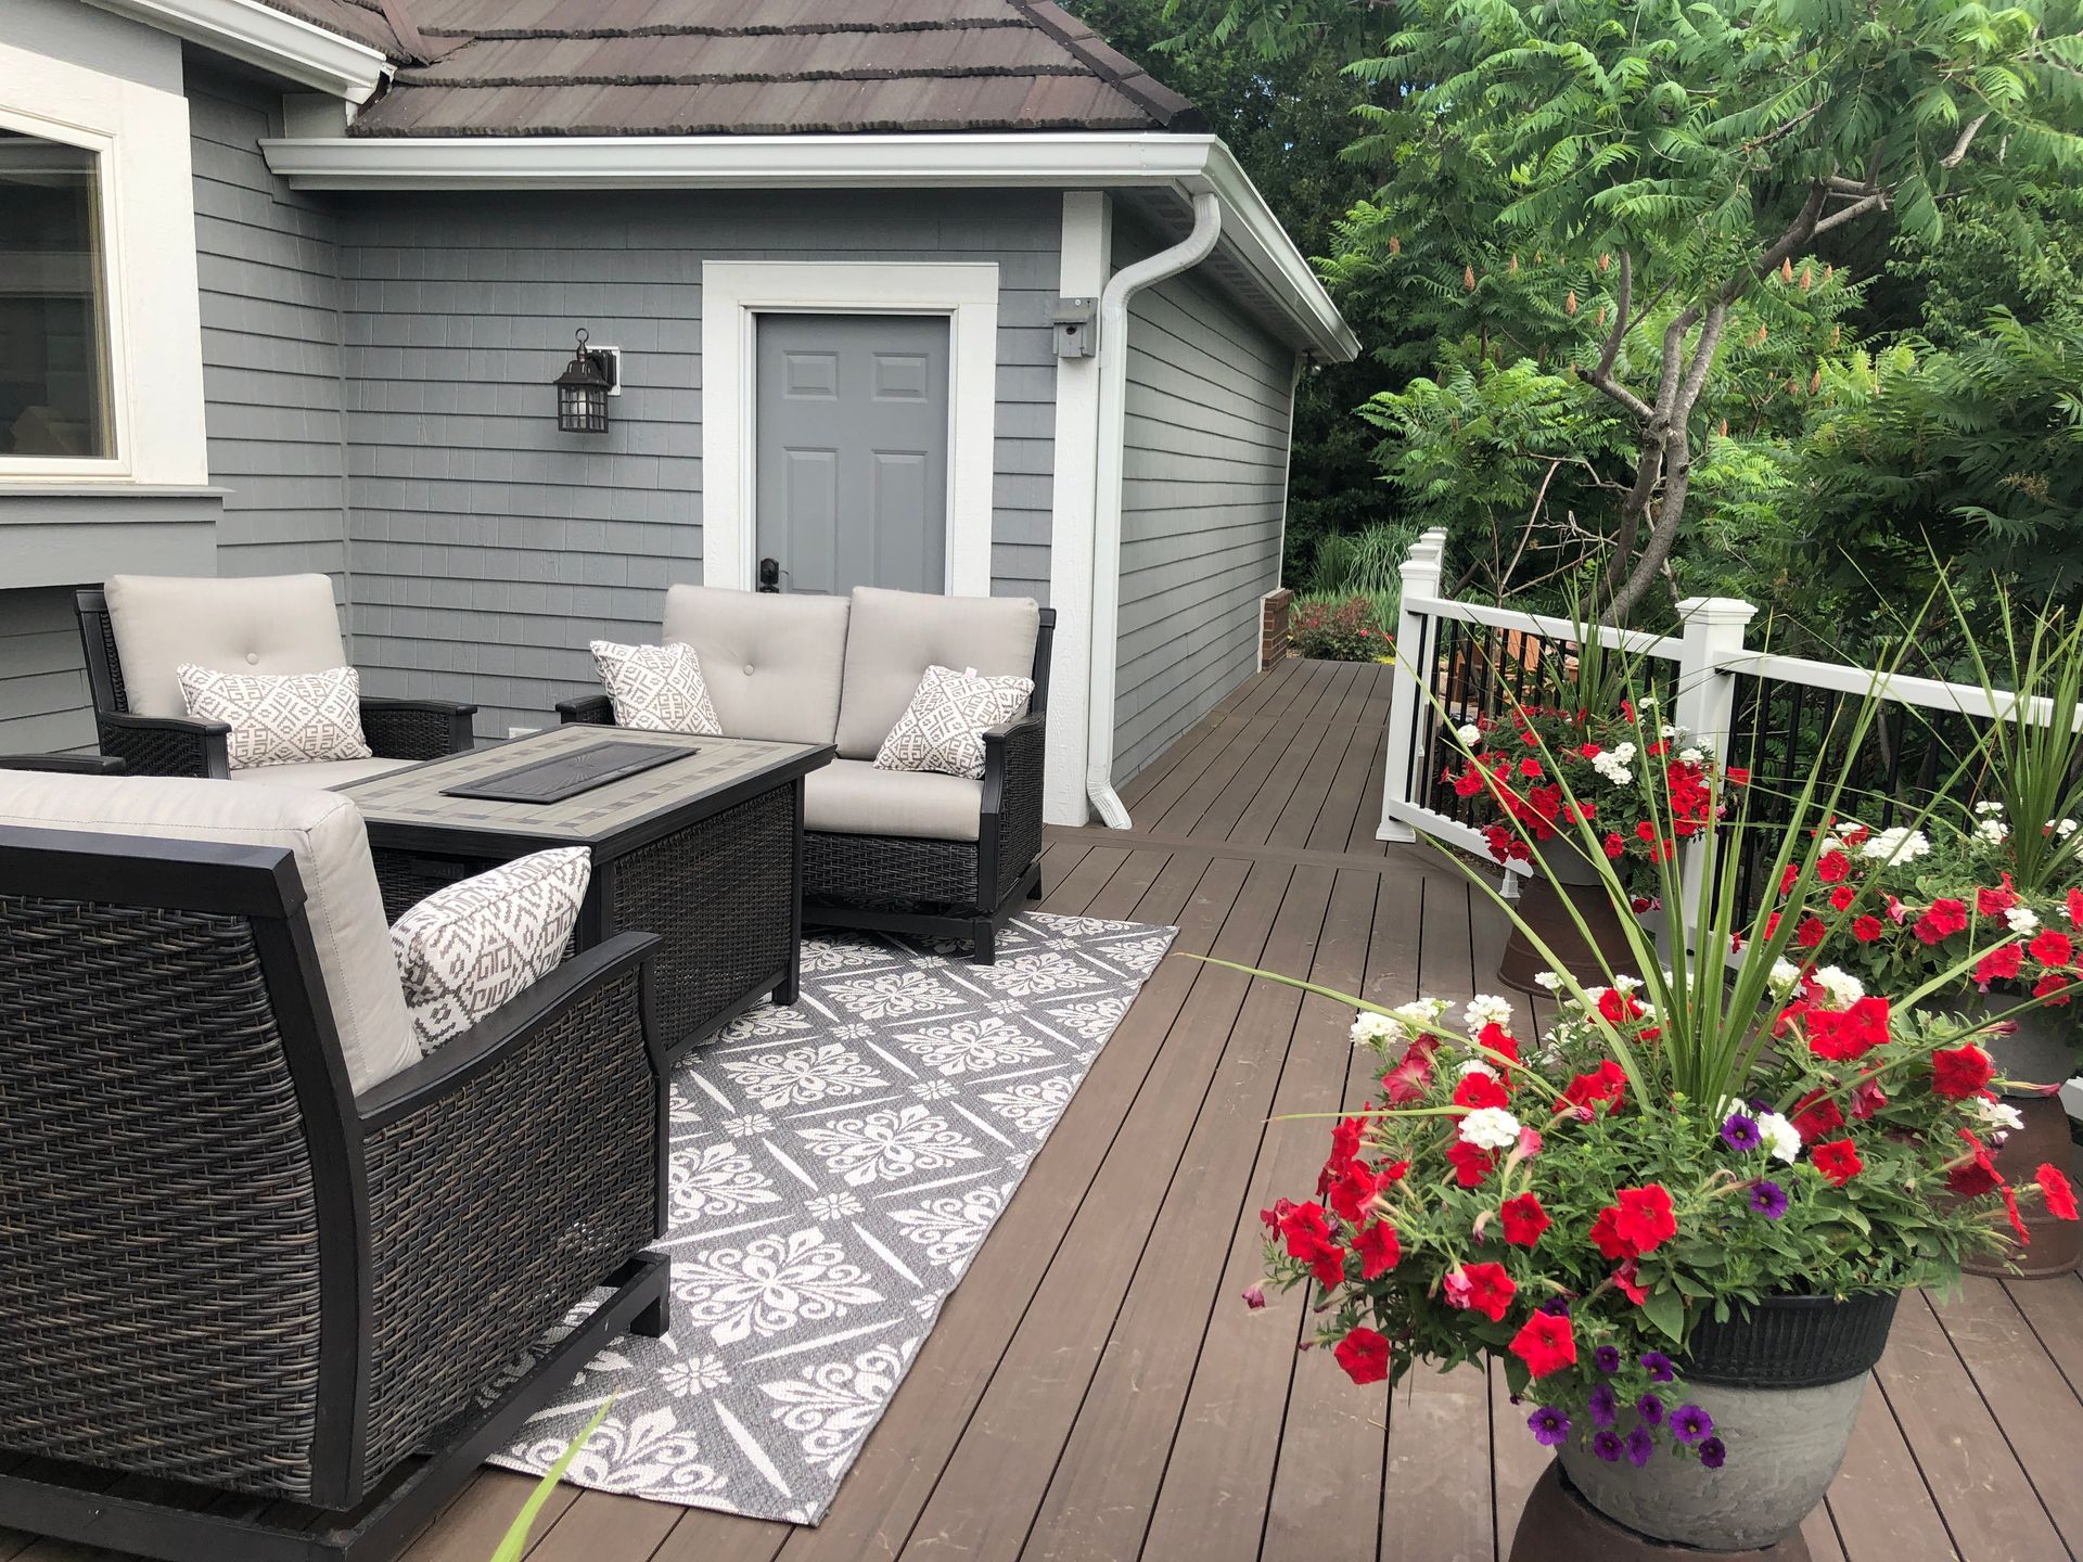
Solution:
M269 173L279 121L279 94L190 71L217 573L323 571L346 600L335 219Z

